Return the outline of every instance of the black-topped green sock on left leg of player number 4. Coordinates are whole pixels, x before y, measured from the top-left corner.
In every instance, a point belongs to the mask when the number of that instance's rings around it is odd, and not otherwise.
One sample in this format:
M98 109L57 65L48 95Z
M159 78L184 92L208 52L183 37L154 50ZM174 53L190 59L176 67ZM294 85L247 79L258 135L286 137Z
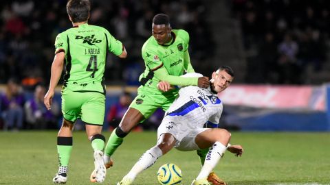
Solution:
M58 164L67 167L72 151L72 137L57 137Z

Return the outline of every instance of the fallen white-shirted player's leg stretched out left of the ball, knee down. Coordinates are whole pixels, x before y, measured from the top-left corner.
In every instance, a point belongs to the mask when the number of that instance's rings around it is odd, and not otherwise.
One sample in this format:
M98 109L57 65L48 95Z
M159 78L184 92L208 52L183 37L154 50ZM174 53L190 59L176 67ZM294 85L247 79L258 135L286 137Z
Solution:
M127 173L127 175L125 175L120 182L118 182L118 185L131 184L139 173L151 167L155 164L158 158L170 151L170 149L173 149L175 142L176 140L172 134L162 134L157 141L157 145L142 154L140 159L134 164L131 171L129 171L129 173Z

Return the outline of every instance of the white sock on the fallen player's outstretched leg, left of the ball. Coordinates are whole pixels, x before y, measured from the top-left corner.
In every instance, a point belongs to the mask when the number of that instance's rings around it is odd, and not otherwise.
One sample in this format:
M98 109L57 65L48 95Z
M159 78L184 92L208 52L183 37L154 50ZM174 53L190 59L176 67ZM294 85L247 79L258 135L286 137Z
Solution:
M131 180L134 180L136 175L144 171L145 169L148 169L148 167L151 167L153 164L155 164L157 158L162 156L162 150L159 149L159 147L155 146L151 149L147 150L141 158L134 164L133 168L125 177L130 178Z

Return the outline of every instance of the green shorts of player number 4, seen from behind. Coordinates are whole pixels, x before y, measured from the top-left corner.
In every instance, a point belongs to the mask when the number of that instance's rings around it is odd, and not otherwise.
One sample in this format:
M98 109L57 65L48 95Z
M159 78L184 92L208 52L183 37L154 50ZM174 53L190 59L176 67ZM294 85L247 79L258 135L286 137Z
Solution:
M79 93L64 88L62 90L63 117L75 122L81 119L89 125L103 125L105 97L102 93Z

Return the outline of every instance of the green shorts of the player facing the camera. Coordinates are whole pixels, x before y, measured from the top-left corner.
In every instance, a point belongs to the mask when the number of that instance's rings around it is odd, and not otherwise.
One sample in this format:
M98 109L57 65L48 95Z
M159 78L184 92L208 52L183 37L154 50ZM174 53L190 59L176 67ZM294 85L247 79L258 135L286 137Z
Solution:
M159 95L144 90L138 90L137 96L129 107L139 110L143 114L145 120L148 119L157 108L162 108L164 111L168 110L177 95L177 91L168 93L167 95ZM144 120L142 120L141 123Z

